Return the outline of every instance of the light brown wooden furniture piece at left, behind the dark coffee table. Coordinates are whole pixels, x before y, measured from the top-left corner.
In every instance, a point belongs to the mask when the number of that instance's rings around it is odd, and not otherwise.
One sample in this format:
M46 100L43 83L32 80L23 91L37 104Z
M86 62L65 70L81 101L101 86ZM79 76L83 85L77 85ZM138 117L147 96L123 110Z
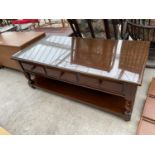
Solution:
M5 32L0 35L0 67L20 70L11 56L45 36L44 32Z

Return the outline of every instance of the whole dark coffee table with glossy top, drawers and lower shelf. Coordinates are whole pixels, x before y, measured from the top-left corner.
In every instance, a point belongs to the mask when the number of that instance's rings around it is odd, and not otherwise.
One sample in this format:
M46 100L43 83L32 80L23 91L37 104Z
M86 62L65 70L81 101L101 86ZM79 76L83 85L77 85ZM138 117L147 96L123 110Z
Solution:
M130 120L149 42L46 36L16 53L31 87L89 103Z

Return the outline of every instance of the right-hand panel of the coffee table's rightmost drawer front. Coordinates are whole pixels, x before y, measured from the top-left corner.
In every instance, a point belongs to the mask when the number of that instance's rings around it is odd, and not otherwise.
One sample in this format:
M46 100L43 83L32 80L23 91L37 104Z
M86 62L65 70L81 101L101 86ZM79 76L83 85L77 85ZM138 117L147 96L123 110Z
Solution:
M101 90L111 91L111 92L117 92L122 93L123 92L123 84L119 82L114 81L106 81L102 80L100 84Z

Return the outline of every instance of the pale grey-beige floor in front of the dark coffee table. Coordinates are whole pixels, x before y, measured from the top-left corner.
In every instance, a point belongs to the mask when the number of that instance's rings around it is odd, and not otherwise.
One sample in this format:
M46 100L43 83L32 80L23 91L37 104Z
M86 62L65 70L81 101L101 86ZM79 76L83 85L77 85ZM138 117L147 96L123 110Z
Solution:
M20 72L0 70L0 125L12 134L135 134L154 69L146 69L131 121L40 89Z

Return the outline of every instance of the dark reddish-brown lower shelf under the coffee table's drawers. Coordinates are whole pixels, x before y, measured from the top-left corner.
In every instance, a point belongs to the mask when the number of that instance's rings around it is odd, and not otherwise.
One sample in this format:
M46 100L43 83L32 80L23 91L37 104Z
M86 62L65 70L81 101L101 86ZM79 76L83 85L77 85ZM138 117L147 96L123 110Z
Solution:
M123 97L40 76L36 76L33 86L52 91L80 102L89 103L92 106L101 108L124 118L125 99Z

